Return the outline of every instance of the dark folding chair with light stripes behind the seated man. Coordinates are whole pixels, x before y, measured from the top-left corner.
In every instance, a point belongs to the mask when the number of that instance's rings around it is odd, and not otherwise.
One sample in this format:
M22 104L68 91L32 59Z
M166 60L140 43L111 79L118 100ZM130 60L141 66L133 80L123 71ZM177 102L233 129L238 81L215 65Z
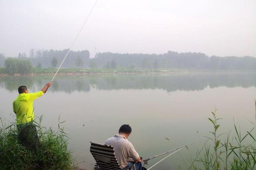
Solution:
M100 170L121 170L116 160L113 146L92 141L90 141L90 143L90 152L96 161L96 166ZM133 166L126 168L126 170L130 170L132 167Z

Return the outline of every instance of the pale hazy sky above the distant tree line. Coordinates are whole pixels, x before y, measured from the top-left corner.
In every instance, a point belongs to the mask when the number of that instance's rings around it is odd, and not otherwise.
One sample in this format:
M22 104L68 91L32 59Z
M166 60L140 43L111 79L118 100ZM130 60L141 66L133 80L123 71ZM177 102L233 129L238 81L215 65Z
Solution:
M0 0L0 53L69 48L95 0ZM73 50L256 57L256 0L98 0Z

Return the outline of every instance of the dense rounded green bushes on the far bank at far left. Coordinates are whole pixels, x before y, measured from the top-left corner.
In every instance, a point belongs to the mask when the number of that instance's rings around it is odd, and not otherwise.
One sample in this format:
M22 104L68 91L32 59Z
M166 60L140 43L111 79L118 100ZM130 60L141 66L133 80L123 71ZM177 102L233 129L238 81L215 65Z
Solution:
M4 67L8 74L32 73L33 65L28 59L8 57L4 61Z

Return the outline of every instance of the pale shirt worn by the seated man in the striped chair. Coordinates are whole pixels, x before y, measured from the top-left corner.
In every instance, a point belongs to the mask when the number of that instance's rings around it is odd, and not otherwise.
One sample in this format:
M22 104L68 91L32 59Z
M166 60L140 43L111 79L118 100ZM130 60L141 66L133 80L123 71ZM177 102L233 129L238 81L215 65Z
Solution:
M128 166L129 159L136 160L139 158L139 154L134 149L132 143L120 134L108 138L104 144L109 144L114 147L116 159L121 168Z

